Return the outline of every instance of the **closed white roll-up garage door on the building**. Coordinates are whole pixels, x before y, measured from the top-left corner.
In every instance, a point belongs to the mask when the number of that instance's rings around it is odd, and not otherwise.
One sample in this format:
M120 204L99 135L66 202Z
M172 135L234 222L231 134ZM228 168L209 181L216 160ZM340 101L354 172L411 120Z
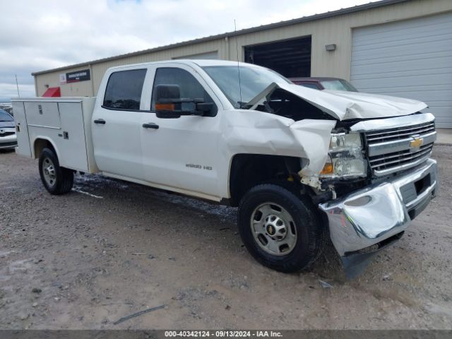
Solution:
M367 93L421 100L452 129L452 13L352 32L350 81Z

